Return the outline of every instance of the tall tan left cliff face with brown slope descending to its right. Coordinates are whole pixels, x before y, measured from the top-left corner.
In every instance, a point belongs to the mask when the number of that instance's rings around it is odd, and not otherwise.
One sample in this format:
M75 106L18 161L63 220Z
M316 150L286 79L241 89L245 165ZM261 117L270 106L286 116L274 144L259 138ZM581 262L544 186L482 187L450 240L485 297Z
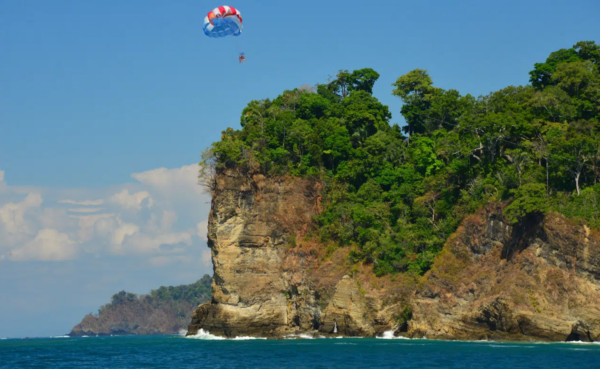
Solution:
M307 179L218 176L208 225L212 301L196 309L188 335L372 336L390 328L375 318L377 299L346 275L345 254L324 261L323 245L303 240L320 191Z

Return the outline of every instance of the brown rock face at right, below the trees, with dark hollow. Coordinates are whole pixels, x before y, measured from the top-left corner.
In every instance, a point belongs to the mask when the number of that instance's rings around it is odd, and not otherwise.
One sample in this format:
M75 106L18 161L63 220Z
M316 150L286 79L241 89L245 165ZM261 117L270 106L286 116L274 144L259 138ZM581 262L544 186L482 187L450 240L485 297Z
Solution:
M512 226L502 206L467 218L412 302L407 334L600 340L600 237L550 214Z

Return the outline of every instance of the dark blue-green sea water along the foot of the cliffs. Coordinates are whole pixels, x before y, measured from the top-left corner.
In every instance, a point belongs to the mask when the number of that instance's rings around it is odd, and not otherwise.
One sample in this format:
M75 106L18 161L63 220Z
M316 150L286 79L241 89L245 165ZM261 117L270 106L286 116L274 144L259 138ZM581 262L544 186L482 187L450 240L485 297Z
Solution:
M0 368L600 368L600 345L433 340L1 340Z

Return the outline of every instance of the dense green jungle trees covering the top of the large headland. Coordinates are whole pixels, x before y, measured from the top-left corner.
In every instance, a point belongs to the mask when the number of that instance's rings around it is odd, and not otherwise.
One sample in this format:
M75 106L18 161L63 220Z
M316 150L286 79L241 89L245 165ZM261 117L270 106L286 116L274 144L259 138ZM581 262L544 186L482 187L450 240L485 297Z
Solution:
M235 167L324 183L317 237L353 247L377 275L424 273L461 220L510 201L518 222L554 210L600 227L600 46L579 42L534 65L530 85L486 96L393 84L406 125L372 96L379 74L340 71L315 89L252 101L241 130L203 153L201 176Z

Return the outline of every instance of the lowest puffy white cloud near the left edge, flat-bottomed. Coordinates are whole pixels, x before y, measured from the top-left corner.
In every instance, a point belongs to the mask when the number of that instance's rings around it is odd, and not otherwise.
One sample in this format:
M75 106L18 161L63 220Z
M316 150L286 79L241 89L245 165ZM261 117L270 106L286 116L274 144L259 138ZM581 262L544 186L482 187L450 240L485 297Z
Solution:
M9 258L16 261L44 260L63 261L77 256L77 243L66 233L43 229L23 247L11 250Z

